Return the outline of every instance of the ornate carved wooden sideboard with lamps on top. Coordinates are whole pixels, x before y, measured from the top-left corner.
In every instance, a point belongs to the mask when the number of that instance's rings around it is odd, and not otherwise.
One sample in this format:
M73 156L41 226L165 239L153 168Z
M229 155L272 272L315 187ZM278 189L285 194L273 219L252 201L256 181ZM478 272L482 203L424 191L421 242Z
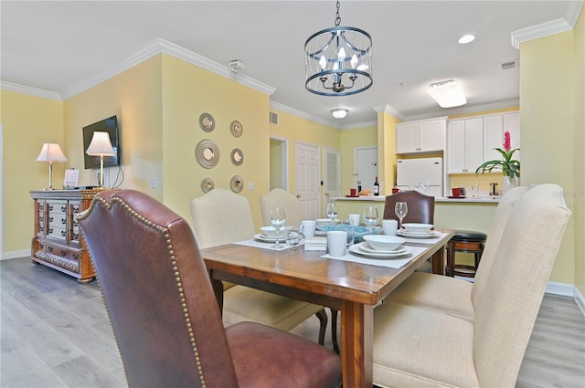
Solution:
M31 191L35 200L35 236L32 239L31 258L47 267L55 268L80 283L95 278L95 269L77 216L90 207L100 190L43 190Z

